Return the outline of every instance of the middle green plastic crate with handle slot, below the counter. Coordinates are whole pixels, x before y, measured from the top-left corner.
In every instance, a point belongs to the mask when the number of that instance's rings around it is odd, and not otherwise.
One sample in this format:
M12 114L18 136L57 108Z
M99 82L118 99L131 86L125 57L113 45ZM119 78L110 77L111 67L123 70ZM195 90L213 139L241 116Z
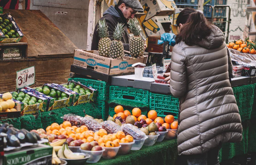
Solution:
M127 100L148 104L149 91L138 88L110 86L110 99Z

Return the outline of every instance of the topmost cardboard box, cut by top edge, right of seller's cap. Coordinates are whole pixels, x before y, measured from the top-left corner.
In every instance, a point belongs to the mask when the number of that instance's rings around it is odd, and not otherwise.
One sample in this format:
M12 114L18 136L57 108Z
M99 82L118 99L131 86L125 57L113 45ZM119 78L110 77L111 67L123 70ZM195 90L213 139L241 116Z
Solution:
M146 15L140 17L141 22L145 22L156 15L171 15L176 8L173 0L141 0L144 13Z

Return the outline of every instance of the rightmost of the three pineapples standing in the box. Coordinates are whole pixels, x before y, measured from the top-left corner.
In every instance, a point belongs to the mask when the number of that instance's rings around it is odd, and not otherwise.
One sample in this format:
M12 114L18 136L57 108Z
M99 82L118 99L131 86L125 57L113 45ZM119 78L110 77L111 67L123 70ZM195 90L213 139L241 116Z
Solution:
M135 19L130 19L128 22L130 32L134 34L130 42L130 52L133 57L138 57L144 54L144 40L140 37L140 27Z

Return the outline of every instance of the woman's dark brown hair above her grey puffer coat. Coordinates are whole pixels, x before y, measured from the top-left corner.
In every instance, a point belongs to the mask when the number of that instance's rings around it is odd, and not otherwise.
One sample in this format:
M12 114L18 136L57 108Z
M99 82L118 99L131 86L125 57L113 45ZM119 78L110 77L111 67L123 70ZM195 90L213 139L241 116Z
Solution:
M176 43L184 41L185 44L192 46L209 36L211 28L212 25L207 22L204 14L199 11L190 13L188 20L183 24L176 37Z

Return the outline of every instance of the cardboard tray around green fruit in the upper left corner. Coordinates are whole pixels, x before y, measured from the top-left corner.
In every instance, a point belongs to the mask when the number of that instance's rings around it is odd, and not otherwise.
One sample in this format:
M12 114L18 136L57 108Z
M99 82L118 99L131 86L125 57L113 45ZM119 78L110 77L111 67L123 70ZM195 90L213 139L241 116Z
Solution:
M0 15L0 17L2 17L2 20L4 19L8 19L10 23L12 23L13 27L14 27L14 31L15 31L15 35L16 33L19 34L19 37L14 37L14 38L7 38L4 33L2 32L2 30L0 30L0 43L17 43L19 42L22 37L24 36L24 34L21 32L21 29L19 28L19 26L17 25L17 23L14 21L14 18L12 17L12 15L10 13L6 13L3 15ZM9 24L10 24L9 23Z

